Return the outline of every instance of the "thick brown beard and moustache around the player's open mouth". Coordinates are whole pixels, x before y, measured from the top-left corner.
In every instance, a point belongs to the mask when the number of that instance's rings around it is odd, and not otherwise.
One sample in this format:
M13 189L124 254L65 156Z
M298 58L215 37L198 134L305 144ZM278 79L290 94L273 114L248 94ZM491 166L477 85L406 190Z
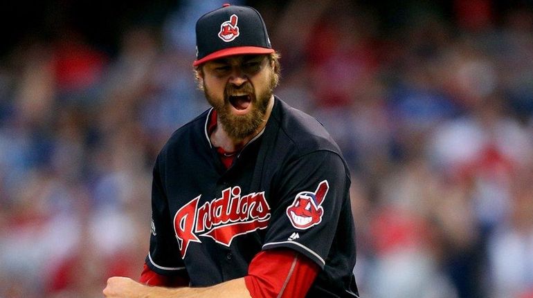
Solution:
M233 140L243 140L253 135L266 120L264 116L269 106L274 86L275 80L271 79L269 88L264 93L258 94L258 97L255 97L255 89L250 82L246 82L246 84L240 86L238 89L231 84L227 84L224 89L224 102L217 101L210 95L205 82L204 91L207 101L217 111L224 131ZM237 91L248 93L251 96L252 110L246 115L235 115L231 112L232 106L229 97L237 93Z

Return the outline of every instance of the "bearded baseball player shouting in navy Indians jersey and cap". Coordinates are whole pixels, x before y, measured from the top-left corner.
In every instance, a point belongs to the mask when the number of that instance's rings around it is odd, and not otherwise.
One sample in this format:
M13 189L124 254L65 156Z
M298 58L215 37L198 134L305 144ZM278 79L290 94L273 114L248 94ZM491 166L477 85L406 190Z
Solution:
M196 25L199 86L213 108L157 157L140 282L106 297L358 297L350 174L324 127L273 95L278 54L259 12Z

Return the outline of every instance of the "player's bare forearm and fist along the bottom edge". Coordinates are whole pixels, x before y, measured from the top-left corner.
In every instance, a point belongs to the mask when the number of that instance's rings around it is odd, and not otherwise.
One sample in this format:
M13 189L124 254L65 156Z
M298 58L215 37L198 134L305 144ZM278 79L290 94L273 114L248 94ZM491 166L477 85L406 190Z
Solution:
M104 289L109 298L251 298L244 278L233 279L206 288L163 288L145 286L125 277L111 277Z

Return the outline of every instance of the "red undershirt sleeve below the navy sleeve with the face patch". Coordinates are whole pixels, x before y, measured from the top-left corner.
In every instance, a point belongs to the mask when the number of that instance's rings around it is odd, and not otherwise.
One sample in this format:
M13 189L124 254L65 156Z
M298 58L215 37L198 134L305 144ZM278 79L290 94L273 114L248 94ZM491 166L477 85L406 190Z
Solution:
M293 250L264 250L244 277L251 297L305 297L320 267Z

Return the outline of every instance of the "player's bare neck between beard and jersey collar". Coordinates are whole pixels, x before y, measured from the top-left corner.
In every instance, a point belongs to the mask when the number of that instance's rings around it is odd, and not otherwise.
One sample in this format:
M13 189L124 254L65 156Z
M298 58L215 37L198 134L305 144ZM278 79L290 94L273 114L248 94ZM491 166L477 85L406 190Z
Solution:
M266 127L266 122L268 122L270 115L272 113L272 108L274 106L274 97L270 97L269 105L266 107L266 111L264 113L264 121L260 124L260 126L253 131L249 136L246 136L242 139L235 139L228 136L228 133L224 131L224 127L222 124L220 124L219 120L217 119L217 128L213 133L211 133L210 140L211 143L215 147L222 147L224 151L226 152L236 152L240 151L248 142L250 142L255 136L258 136L258 134Z

